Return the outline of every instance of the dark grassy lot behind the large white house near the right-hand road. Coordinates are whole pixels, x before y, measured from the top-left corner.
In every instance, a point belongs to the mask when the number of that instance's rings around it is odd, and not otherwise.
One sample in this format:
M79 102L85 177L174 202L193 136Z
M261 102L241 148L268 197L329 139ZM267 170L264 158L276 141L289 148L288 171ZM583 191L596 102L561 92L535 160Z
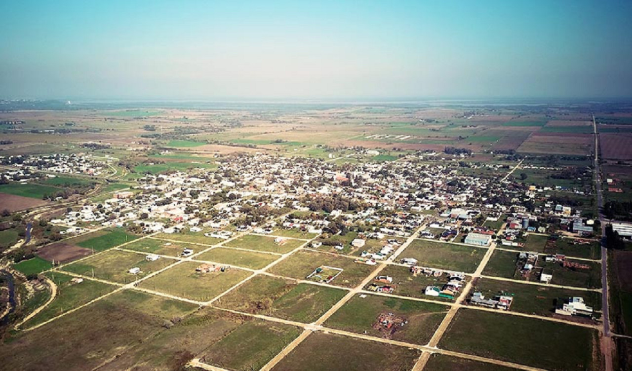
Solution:
M553 317L555 309L561 307L563 300L569 297L582 297L586 305L594 310L601 309L601 294L598 292L585 292L568 290L540 285L526 285L524 283L497 281L481 278L473 287L474 291L480 291L485 297L493 297L499 292L513 294L511 310L526 314L544 315Z

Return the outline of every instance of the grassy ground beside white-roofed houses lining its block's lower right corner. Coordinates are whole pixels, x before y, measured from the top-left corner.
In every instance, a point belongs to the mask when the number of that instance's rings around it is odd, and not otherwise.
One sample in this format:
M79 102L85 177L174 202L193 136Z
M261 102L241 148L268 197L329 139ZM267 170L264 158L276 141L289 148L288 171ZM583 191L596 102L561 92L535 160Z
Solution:
M391 276L393 278L394 294L403 295L404 297L424 298L428 300L437 300L440 302L453 302L448 298L428 297L424 295L426 286L443 286L447 283L447 277L426 277L423 274L413 276L410 270L402 266L389 265L382 269L380 276Z

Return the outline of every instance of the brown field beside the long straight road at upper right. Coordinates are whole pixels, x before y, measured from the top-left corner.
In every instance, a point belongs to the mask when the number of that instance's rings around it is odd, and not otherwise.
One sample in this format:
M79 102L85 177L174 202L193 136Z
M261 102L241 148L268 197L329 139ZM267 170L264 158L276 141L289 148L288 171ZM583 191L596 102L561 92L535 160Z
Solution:
M518 148L523 153L554 153L556 155L590 155L593 138L590 134L564 132L533 133Z

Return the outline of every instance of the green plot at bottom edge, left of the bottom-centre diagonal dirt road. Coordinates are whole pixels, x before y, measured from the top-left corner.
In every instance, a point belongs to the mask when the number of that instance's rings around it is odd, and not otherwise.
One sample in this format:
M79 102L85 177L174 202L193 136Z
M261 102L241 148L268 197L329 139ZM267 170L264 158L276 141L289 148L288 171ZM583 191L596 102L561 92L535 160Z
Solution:
M300 333L294 326L247 321L210 346L202 356L205 362L229 370L258 370Z

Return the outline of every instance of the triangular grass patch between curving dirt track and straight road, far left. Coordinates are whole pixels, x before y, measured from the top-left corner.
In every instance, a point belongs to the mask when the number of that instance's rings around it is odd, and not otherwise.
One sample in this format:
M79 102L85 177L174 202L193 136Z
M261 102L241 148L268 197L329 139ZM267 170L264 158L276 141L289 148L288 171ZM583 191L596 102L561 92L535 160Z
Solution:
M46 322L116 289L114 285L92 280L73 283L70 281L73 276L59 272L49 272L46 276L57 285L57 296L44 310L28 320L24 327Z

